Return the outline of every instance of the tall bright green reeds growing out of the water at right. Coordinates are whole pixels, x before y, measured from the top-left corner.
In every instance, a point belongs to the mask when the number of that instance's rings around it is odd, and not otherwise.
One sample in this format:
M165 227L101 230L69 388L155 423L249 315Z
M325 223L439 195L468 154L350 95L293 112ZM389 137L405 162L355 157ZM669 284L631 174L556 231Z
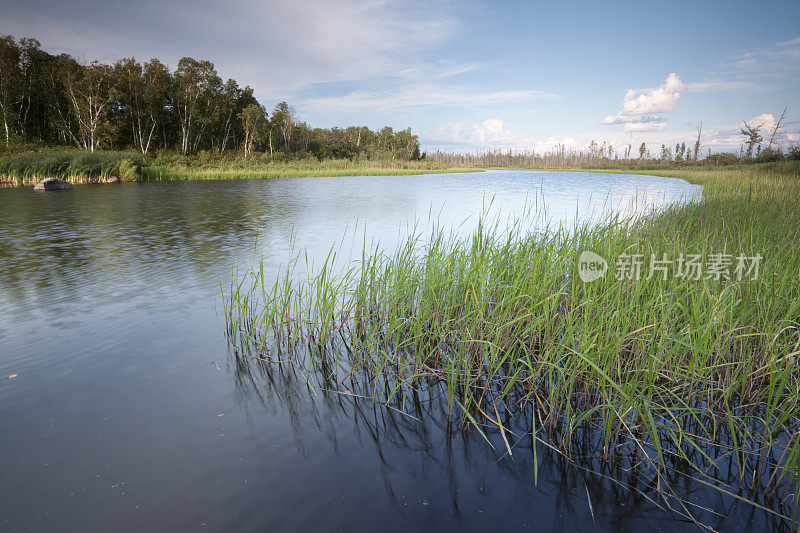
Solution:
M274 284L262 268L232 287L229 332L266 359L324 360L337 382L360 383L383 403L439 381L449 410L509 454L519 435L508 417L530 409L534 442L565 457L592 431L606 461L631 454L665 492L682 469L762 509L787 502L796 515L798 166L673 175L704 185L705 199L539 235L523 220L510 234L435 231L393 253L365 249L346 272L329 257L299 283L291 266ZM757 281L584 284L575 276L584 249L764 259ZM722 479L731 472L736 479ZM693 511L683 501L673 509Z

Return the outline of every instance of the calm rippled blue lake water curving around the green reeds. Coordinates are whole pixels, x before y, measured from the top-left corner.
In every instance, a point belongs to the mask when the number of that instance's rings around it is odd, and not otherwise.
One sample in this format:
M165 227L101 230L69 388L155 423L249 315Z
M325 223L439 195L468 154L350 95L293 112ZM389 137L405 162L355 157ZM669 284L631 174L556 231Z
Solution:
M415 219L470 227L492 198L572 223L698 193L512 171L0 190L0 377L18 374L0 379L0 529L694 530L556 458L535 486L529 445L500 458L435 391L411 418L237 360L219 287L261 255L274 273L293 240L312 258L345 231L390 246ZM769 527L690 493L723 530Z

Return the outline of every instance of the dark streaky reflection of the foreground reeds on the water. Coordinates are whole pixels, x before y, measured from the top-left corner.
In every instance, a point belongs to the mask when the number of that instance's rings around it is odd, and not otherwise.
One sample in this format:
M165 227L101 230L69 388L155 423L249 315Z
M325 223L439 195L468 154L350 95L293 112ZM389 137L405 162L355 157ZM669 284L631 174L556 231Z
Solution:
M542 418L541 410L501 409L504 429L513 435L513 456L509 456L496 426L495 431L487 429L491 427L488 421L481 426L484 428L482 434L458 431L459 420L451 416L446 384L435 378L420 378L416 387L402 387L385 399L381 394L375 396L385 384L376 387L366 372L359 371L353 379L342 382L341 378L348 374L344 360L332 367L329 362L317 359L309 368L296 361L297 357L308 355L307 349L298 348L292 359L277 362L275 358L262 357L257 343L235 344L231 361L236 387L243 398L255 401L265 409L286 413L295 445L308 459L312 459L308 441L314 439L308 433L315 429L335 449L342 448L353 435L358 435L362 444L374 446L382 458L380 471L387 496L398 508L401 503L394 487L405 484L407 478L413 478L421 486L436 487L437 491L441 490L440 484L444 482L449 498L443 494L440 503L449 503L450 513L460 519L470 490L482 493L488 488L485 487L486 473L480 473L483 468L477 469L476 476L460 469L469 468L466 465L484 464L493 465L503 473L503 477L513 479L524 494L528 494L527 490L534 485L546 490L557 513L566 515L568 520L573 516L579 523L586 520L589 502L600 524L625 520L629 526L642 523L648 527L654 527L655 523L663 524L669 517L670 508L677 508L680 512L681 499L689 495L693 503L686 504L691 506L695 515L703 513L697 507L698 503L712 510L730 507L731 502L725 493L713 487L687 487L682 483L687 473L692 474L692 469L683 461L673 461L670 469L655 472L635 448L604 454L601 431L588 424L571 432L567 453L552 443L559 441L569 428L555 428L547 435L538 432L534 439L531 427L534 427L534 420ZM518 391L512 392L516 394ZM516 398L509 396L505 403L513 406L514 401ZM491 441L491 447L486 445L482 435ZM720 444L731 446L730 436L724 428L717 439ZM421 462L422 468L397 468L408 460L398 456L398 450L412 454L413 463ZM689 454L699 455L691 450ZM718 480L715 483L723 488L735 485L738 481L735 464L721 459L717 463L720 470L715 474ZM660 490L659 486L664 489L674 487L676 494ZM493 488L495 490L491 492L497 494L497 487ZM584 492L589 494L587 499L580 497ZM738 492L783 514L791 513L790 506L779 497L765 496L751 489ZM530 497L541 505L538 492L530 494ZM514 501L519 503L525 501L524 498L523 494L515 492ZM662 513L657 512L658 509ZM731 511L735 516L732 524L726 521L728 527L746 522L748 527L756 530L778 531L786 525L777 515L763 513L760 517L753 516L747 508ZM524 509L518 514L512 511L511 516L504 515L504 519L513 520L525 513ZM700 520L703 518L716 521L720 517L706 512ZM635 522L631 522L632 519Z

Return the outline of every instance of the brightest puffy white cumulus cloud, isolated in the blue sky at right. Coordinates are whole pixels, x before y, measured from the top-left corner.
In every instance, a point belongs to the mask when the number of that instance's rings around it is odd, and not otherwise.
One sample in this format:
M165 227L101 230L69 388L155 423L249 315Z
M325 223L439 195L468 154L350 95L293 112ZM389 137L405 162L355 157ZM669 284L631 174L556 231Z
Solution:
M629 89L622 99L619 113L607 116L602 124L624 124L626 132L662 131L667 127L667 119L654 113L674 111L686 89L686 84L674 72L655 89Z

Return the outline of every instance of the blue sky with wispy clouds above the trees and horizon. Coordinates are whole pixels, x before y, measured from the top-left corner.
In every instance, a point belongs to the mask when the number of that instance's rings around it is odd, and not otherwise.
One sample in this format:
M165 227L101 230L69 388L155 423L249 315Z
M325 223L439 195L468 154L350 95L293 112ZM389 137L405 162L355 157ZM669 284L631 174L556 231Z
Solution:
M0 33L89 61L190 55L312 125L411 127L428 149L543 151L737 125L800 140L800 2L0 0ZM627 95L627 96L626 96ZM605 123L604 123L605 122Z

